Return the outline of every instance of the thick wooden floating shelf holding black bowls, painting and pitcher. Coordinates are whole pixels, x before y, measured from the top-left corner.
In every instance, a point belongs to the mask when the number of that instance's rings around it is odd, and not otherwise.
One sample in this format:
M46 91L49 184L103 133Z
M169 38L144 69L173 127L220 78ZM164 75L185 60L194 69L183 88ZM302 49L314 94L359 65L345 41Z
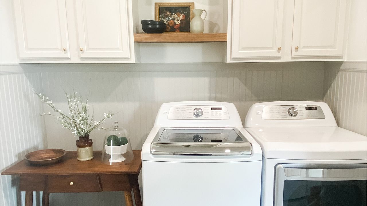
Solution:
M227 41L227 33L203 33L189 32L165 32L162 34L134 34L137 43L200 43L200 42L224 42Z

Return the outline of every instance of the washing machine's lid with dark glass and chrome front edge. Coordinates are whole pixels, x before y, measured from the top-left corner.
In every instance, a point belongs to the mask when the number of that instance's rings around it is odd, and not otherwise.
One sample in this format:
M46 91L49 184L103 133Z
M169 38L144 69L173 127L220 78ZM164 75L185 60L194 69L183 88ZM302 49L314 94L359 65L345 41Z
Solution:
M251 155L251 143L236 128L161 128L153 155Z

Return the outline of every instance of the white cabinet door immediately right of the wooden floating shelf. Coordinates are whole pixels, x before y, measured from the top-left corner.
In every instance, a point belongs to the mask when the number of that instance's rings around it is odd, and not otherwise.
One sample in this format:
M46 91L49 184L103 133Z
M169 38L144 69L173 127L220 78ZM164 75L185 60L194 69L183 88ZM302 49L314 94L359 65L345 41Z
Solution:
M283 0L232 1L232 58L280 58Z

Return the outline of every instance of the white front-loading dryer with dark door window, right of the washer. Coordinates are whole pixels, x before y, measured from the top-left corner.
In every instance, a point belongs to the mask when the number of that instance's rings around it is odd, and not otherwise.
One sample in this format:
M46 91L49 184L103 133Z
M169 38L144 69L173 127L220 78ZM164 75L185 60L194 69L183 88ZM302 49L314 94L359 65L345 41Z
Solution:
M257 103L245 128L263 151L261 205L366 206L366 136L338 127L326 103Z

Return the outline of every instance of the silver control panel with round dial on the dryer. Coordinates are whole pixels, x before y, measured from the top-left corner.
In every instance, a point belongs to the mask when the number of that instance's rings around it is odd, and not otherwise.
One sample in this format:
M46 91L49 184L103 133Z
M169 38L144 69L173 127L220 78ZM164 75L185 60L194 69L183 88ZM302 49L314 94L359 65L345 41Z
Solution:
M265 106L262 119L325 119L320 106L315 105L279 105Z

